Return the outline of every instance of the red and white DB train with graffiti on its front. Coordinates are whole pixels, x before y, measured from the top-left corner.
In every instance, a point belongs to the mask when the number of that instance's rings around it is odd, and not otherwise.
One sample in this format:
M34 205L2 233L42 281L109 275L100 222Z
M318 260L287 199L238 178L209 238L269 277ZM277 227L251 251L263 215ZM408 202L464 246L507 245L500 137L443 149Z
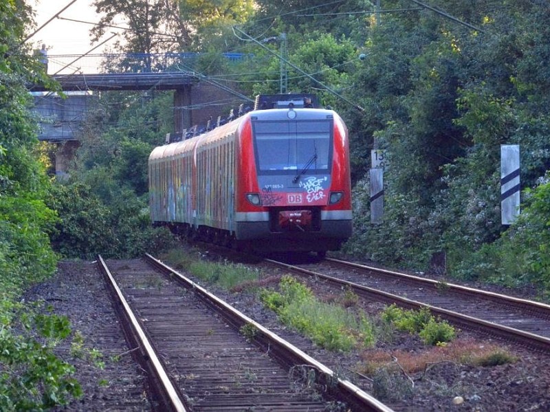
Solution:
M151 152L153 224L259 252L339 249L352 227L347 127L305 99L259 102L272 108Z

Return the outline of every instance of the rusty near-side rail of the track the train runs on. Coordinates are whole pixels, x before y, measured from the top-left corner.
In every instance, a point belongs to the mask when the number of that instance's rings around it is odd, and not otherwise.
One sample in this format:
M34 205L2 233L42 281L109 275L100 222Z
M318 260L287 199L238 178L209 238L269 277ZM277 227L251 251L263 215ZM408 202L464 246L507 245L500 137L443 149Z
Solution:
M329 260L329 259L327 259ZM482 328L485 328L487 330L490 330L492 334L495 336L500 336L504 339L515 339L517 341L520 341L523 345L526 345L528 347L533 347L536 350L542 350L545 352L550 351L550 339L540 336L537 334L532 334L530 332L525 332L523 330L518 330L515 328L509 328L508 326L504 325L498 325L498 323L493 323L489 321L485 321L483 319L478 319L475 317L470 317L465 314L461 314L458 312L453 312L452 310L447 310L443 308L439 308L437 306L432 306L429 304L425 304L423 302L415 301L412 299L407 299L406 297L401 297L399 295L394 295L393 293L384 292L383 290L378 290L375 288L370 288L369 286L364 286L360 284L355 284L353 282L349 282L344 279L338 279L337 277L329 276L329 275L323 275L322 273L309 271L305 268L300 268L299 266L294 266L291 264L286 264L284 262L278 262L276 260L270 260L266 259L265 262L270 262L271 264L274 264L276 266L281 266L283 268L287 268L289 271L293 271L295 273L303 273L305 275L309 276L316 276L320 279L325 279L327 282L331 282L332 284L336 284L338 286L349 286L352 288L355 293L358 293L358 295L369 295L374 296L377 299L382 299L384 301L390 302L390 303L397 303L400 306L404 306L406 308L428 308L430 311L432 311L435 314L439 314L439 316L443 319L447 319L449 321L452 321L454 324L461 325L461 327L471 327L471 325L481 326ZM342 261L339 261L342 262ZM347 262L344 262L347 263ZM358 267L360 265L357 265ZM370 268L370 270L380 271L380 269L377 268ZM389 271L386 271L389 273ZM421 277L414 277L411 275L405 275L408 279L421 279L424 280ZM430 279L431 282L439 283L436 281L433 281ZM455 285L459 288L463 288L463 286ZM465 288L466 290L469 290L472 292L474 289L472 288ZM492 293L491 295L498 295L496 293ZM504 296L504 295L503 295ZM515 299L516 301L522 301L522 299ZM531 302L531 301L527 301ZM533 302L536 303L536 302Z

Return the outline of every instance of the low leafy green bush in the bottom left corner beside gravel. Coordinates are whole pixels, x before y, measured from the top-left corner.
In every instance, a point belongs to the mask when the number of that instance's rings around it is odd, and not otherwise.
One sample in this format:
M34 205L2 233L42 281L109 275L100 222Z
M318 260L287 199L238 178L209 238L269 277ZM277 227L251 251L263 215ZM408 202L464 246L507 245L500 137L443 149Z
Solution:
M71 332L67 317L5 299L0 310L0 410L45 411L82 396L74 367L53 353Z

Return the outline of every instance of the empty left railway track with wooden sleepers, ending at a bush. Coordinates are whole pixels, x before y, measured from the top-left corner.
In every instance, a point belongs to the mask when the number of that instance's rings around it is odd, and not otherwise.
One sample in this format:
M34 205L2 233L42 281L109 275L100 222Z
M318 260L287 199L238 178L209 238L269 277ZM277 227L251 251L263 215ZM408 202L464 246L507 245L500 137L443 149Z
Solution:
M158 410L325 411L327 400L318 397L322 389L327 399L346 402L353 411L391 412L150 255L99 258L98 264L115 306L128 320L126 336L132 347L140 347L151 386L159 388ZM315 376L316 385L292 387L289 370L295 368Z

